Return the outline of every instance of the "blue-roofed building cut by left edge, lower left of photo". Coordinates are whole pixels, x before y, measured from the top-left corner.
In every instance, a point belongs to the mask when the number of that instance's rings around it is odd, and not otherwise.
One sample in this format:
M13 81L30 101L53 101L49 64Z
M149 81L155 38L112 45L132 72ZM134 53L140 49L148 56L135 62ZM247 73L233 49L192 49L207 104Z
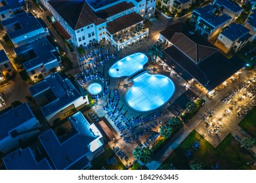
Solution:
M7 154L39 133L41 124L27 103L0 115L0 154Z

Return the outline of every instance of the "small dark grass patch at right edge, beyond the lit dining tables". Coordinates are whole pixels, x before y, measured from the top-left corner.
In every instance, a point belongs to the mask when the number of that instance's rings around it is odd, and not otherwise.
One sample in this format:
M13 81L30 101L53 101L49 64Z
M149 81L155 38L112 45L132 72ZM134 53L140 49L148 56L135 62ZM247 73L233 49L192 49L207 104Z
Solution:
M256 107L239 124L251 137L256 137Z

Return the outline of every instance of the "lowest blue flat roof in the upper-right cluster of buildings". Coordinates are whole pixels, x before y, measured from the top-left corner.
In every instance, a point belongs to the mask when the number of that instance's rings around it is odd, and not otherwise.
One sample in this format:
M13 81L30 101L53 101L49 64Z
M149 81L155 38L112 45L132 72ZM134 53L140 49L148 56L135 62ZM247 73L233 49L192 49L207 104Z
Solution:
M240 39L248 35L249 31L250 30L244 27L244 25L232 23L228 25L228 27L225 27L221 34L232 41L236 41L236 39ZM249 35L249 37L251 37L251 35Z

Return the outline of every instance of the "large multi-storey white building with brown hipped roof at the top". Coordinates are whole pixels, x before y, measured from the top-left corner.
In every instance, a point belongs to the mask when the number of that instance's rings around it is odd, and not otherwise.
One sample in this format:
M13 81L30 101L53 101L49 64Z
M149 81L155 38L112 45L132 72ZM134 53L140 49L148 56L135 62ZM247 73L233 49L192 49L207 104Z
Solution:
M49 9L56 22L70 35L69 41L75 46L87 45L106 39L112 42L117 50L129 45L128 42L137 42L148 36L148 29L144 29L142 26L144 21L142 16L152 16L156 9L156 0L41 0L41 3ZM114 29L113 27L122 22L123 19L125 19L127 25L118 25L118 29ZM140 27L137 27L135 33L134 29L137 25L140 25ZM108 29L115 31L108 31ZM133 33L126 34L127 31L133 31ZM117 41L114 40L116 35L127 36L125 39L120 38Z

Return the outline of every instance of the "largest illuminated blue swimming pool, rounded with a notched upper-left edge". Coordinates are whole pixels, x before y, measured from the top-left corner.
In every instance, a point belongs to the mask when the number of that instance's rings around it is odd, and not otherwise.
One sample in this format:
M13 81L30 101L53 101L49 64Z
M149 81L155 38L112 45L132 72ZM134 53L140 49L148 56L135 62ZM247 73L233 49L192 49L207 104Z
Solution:
M167 76L144 73L133 79L125 99L131 108L146 112L164 105L174 92L175 85Z

